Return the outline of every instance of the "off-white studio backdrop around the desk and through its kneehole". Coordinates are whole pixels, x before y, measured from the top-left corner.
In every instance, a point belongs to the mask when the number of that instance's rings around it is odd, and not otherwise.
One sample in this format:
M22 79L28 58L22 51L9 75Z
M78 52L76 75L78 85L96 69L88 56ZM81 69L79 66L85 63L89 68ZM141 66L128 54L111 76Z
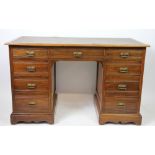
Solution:
M141 101L142 125L155 125L155 29L100 30L79 35L77 31L56 35L54 30L0 30L0 125L10 124L12 111L9 52L5 42L19 36L65 36L65 37L130 37L150 44L147 48ZM98 125L93 104L96 87L96 62L57 62L56 89L58 95L55 125ZM74 93L74 94L73 94ZM81 94L81 95L80 95Z

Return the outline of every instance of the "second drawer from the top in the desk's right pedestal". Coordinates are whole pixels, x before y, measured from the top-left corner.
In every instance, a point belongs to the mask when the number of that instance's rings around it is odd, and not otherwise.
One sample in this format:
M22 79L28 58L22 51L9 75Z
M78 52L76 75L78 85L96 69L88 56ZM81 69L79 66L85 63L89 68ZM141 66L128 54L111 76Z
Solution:
M127 74L127 75L140 75L141 74L141 65L140 64L107 64L106 65L106 74Z

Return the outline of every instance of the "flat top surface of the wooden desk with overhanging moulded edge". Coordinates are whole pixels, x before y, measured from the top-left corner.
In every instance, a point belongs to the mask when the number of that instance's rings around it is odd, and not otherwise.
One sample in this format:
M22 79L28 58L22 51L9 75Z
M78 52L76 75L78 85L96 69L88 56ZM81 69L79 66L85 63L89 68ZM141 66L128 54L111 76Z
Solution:
M6 45L17 46L81 46L81 47L149 47L131 38L65 38L23 36Z

